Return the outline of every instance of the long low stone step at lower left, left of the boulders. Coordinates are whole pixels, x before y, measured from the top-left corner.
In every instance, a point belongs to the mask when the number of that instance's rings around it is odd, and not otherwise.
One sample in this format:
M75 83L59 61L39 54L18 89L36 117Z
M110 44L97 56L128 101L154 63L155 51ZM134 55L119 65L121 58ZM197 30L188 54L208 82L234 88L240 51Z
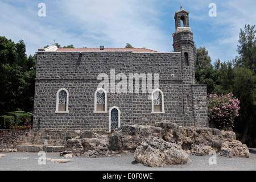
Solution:
M20 144L17 147L18 152L63 152L65 150L64 146L39 146L39 145L29 145Z

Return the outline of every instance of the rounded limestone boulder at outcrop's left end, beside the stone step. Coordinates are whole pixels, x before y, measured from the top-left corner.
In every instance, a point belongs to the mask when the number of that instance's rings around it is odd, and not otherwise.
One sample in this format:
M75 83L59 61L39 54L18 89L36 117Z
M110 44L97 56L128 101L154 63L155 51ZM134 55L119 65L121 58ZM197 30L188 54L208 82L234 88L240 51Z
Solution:
M66 143L67 150L72 151L75 156L80 156L84 152L81 139L69 139Z

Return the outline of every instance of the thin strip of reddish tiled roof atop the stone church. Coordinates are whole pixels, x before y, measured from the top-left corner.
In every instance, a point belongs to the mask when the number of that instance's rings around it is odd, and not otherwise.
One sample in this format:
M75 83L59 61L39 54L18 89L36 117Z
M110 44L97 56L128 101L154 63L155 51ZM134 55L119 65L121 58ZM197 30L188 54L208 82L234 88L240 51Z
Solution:
M101 51L100 48L58 48L56 51ZM158 52L147 48L104 48L104 51Z

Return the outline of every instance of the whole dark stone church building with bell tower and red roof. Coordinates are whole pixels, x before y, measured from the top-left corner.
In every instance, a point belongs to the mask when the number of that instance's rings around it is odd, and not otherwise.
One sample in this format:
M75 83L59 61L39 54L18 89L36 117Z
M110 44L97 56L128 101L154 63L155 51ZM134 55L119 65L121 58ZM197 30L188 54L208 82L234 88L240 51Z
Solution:
M175 13L174 52L39 48L34 129L110 131L161 121L207 127L207 88L195 84L188 15Z

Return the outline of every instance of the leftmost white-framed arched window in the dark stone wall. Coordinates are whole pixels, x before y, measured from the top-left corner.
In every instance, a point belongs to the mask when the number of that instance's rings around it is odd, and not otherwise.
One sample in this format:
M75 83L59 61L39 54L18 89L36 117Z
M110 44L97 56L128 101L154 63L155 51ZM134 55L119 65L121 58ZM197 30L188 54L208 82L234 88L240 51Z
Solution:
M68 113L68 90L61 88L56 95L56 113Z

